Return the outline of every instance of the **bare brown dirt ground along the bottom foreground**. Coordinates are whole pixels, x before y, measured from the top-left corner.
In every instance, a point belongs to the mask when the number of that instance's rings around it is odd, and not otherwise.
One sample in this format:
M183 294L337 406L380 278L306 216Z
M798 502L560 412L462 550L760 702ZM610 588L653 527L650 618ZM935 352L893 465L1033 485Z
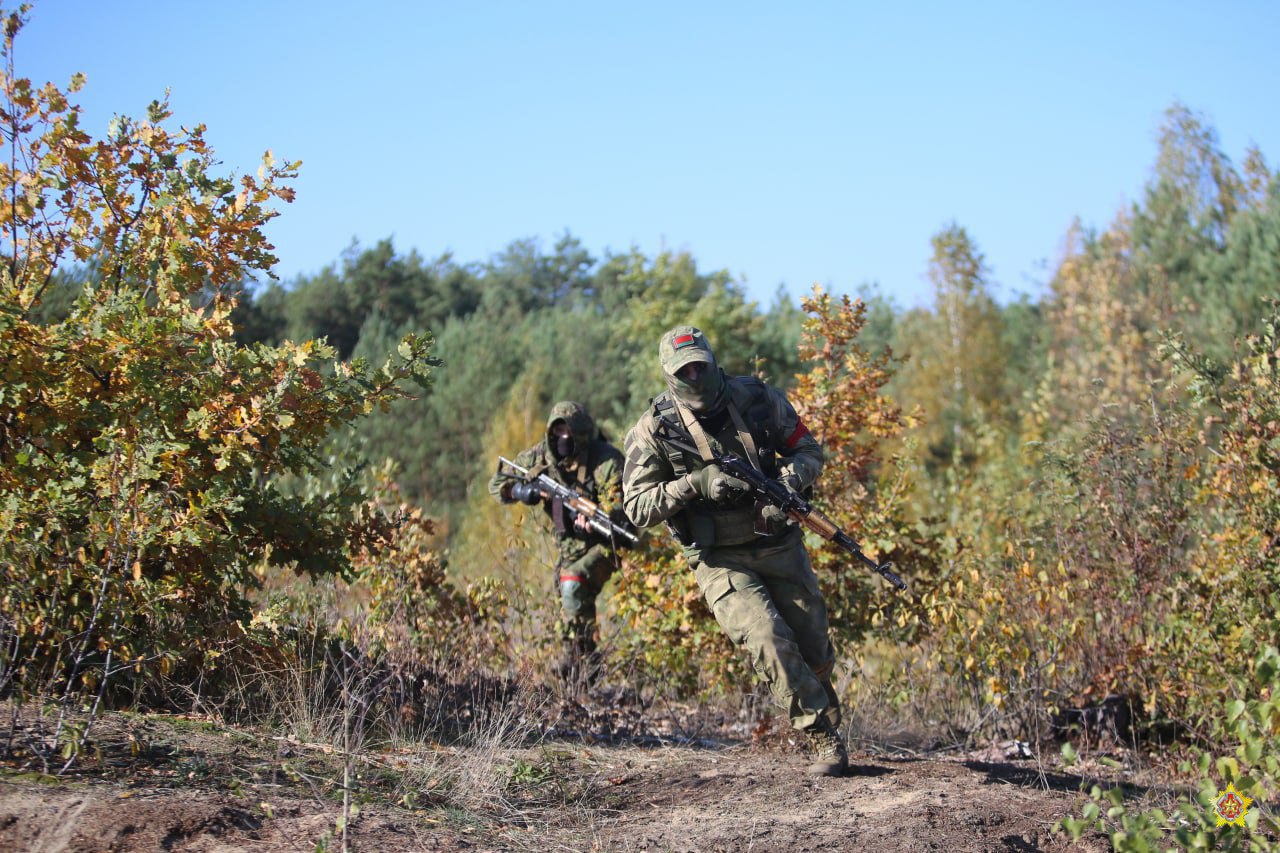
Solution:
M559 747L557 747L561 749ZM493 812L367 806L351 849L394 850L1105 850L1052 835L1079 780L1033 762L855 754L809 779L799 756L563 747L586 795L520 798ZM539 788L557 780L541 780ZM545 794L545 790L543 792ZM148 788L0 777L0 850L339 850L339 806L273 785Z

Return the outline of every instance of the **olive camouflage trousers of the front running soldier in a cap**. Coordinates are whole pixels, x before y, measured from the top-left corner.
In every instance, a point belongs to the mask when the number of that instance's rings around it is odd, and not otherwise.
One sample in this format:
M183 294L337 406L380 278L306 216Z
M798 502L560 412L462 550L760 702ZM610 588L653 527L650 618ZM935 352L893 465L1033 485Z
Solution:
M748 651L791 725L805 729L819 717L840 725L827 605L800 532L707 548L694 574L716 621Z

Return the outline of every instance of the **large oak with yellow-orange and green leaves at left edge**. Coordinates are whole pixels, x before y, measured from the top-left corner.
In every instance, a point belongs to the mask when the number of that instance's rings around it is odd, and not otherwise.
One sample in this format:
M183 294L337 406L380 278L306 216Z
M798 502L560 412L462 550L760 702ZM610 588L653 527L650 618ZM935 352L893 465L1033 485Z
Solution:
M216 174L205 128L165 101L82 127L63 90L0 76L0 693L164 702L246 640L256 569L351 571L374 516L323 469L337 426L425 384L430 338L384 364L321 342L239 346L230 295L274 263L262 225L298 164ZM60 270L97 275L64 319Z

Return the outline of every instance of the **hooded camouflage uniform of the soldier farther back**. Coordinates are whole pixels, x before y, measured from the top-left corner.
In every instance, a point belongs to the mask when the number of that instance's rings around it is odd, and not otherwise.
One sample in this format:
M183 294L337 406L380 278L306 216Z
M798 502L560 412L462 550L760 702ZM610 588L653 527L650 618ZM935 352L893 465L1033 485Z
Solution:
M557 451L553 432L558 424L567 425L573 438L573 448L567 456ZM547 435L515 461L531 474L547 474L599 503L614 524L630 528L621 506L622 453L604 441L581 403L556 403L547 419ZM498 474L489 480L489 493L503 503L513 502L511 487L512 480ZM556 588L564 617L561 630L566 653L561 666L567 670L584 656L595 654L595 599L621 564L616 548L626 542L611 542L594 530L582 530L575 524L576 514L559 501L544 500L541 503L559 548Z

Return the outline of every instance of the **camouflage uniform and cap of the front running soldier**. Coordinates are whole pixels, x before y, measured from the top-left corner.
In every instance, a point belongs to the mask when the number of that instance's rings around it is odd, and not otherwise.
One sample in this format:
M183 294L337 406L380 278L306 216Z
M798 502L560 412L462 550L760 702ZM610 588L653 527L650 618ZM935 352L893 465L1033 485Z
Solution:
M726 377L696 328L677 327L664 334L659 357L668 391L653 398L626 437L627 516L639 528L667 523L716 620L749 652L791 725L809 733L810 740L817 733L828 752L836 751L840 703L831 684L836 654L800 529L786 524L776 508L733 500L731 492L716 501L700 494L707 479L718 478L714 471L707 473L710 478L700 474L709 455L672 448L655 430L664 415L695 438L701 433L708 450L754 459L762 473L795 491L818 479L822 447L781 391L753 377ZM699 360L707 362L704 377L695 384L682 382L677 371ZM838 753L836 771L844 772L842 742ZM815 772L832 771L823 767Z

